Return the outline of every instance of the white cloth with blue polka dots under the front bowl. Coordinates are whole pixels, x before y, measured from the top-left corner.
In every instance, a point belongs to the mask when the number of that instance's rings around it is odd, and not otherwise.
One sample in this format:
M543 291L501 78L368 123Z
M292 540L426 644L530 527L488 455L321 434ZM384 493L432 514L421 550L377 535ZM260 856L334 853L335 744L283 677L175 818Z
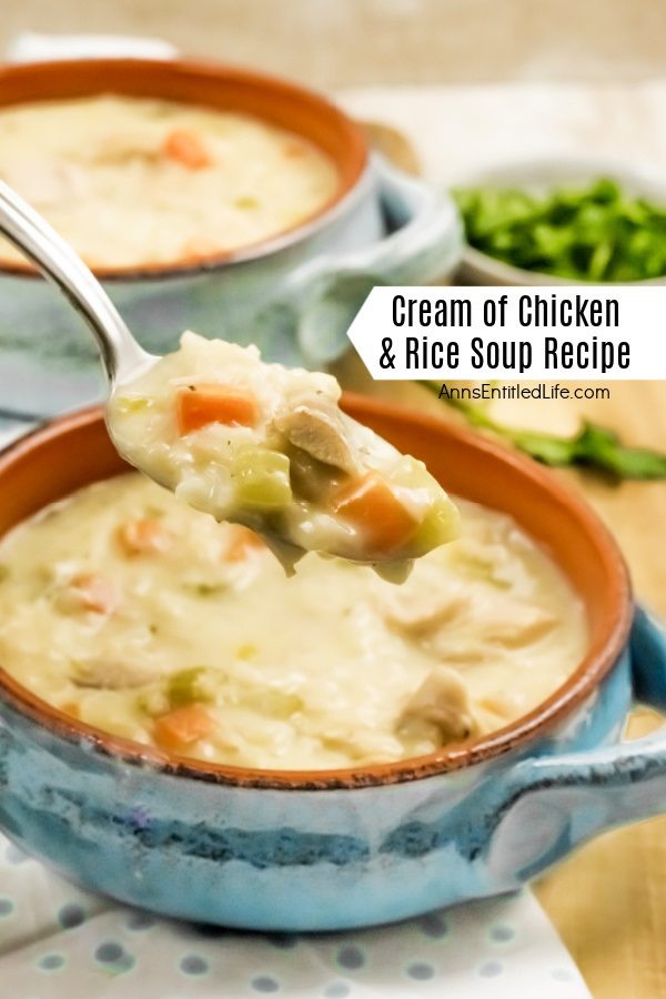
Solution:
M184 925L79 891L0 836L12 999L589 999L529 892L344 934Z

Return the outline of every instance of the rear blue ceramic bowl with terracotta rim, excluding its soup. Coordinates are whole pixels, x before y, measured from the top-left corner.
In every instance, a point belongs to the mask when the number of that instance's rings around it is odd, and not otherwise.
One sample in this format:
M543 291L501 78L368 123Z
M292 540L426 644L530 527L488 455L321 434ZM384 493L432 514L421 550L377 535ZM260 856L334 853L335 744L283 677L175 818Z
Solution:
M268 360L321 367L376 284L446 279L462 253L452 199L372 154L357 125L312 91L260 73L181 59L100 59L0 68L0 107L117 93L253 114L316 144L337 167L334 198L272 240L178 265L93 268L147 350L185 329L255 343ZM98 356L78 317L26 265L0 266L2 406L49 415L101 395Z

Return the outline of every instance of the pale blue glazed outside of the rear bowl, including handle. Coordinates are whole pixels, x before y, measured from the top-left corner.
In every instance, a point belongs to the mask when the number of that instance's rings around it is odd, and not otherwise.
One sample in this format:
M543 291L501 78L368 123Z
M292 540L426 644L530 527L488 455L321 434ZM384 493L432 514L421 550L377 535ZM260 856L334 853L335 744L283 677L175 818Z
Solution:
M346 331L374 285L445 279L462 244L452 199L375 154L341 202L262 256L104 287L152 353L194 330L316 369L349 347ZM18 415L101 397L90 334L40 278L0 271L0 384L3 410Z

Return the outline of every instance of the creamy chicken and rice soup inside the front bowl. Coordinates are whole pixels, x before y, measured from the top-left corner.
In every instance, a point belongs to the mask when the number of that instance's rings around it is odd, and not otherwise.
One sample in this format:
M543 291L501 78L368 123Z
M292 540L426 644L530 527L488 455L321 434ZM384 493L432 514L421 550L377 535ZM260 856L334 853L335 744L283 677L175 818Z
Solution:
M460 505L461 538L397 587L315 554L289 579L248 528L137 473L88 486L0 543L0 662L89 725L203 760L430 753L534 708L586 648L553 562Z

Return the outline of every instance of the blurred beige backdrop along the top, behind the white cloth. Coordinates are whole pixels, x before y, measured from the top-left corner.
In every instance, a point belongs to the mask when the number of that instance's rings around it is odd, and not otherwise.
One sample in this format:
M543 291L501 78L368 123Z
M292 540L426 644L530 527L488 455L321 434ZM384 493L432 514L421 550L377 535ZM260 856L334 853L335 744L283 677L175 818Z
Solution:
M20 31L155 34L315 87L640 80L666 68L663 0L4 0Z

